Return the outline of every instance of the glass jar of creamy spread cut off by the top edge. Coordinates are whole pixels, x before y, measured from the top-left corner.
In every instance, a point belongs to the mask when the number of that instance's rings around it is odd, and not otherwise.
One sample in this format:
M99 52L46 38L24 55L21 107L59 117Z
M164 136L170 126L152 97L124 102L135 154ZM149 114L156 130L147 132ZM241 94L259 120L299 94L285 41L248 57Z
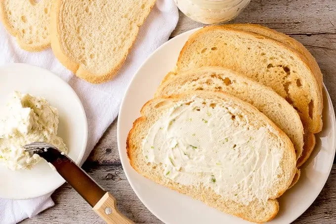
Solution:
M236 17L250 0L174 0L177 7L192 20L220 24Z

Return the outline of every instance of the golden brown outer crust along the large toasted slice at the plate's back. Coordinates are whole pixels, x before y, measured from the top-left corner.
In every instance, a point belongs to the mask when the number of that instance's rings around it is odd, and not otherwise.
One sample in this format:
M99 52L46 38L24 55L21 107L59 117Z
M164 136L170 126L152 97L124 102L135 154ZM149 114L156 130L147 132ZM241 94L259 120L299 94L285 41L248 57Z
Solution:
M270 39L270 38L266 38L265 36L262 36L262 35L258 35L256 33L252 33L252 32L246 32L246 31L241 31L241 30L237 30L237 29L233 29L233 28L229 28L229 27L225 27L225 26L207 26L207 27L204 27L203 29L200 29L198 31L196 31L195 33L193 33L188 41L186 42L186 44L183 46L183 48L181 49L180 51L180 54L178 56L178 60L177 60L177 72L180 72L181 69L180 69L180 62L182 61L182 56L184 54L184 52L187 50L187 48L189 47L189 45L193 44L199 35L202 35L206 32L209 32L209 31L212 31L212 30L227 30L227 31L234 31L236 33L240 33L240 34L243 34L243 35L250 35L254 38L257 38L257 39L267 39L268 42L272 43L273 45L277 45L279 46L280 48L284 48L284 49L287 49L288 51L292 52L294 55L296 55L298 58L302 58L302 55L295 49L287 46L287 45L284 45L283 43L281 42L278 42L278 41L275 41L273 39ZM314 72L312 71L312 69L310 68L310 66L308 65L307 61L303 58L302 60L302 63L305 64L305 66L307 67L307 69L309 69L311 71L312 74L314 74ZM311 80L312 82L312 86L314 89L318 90L316 93L317 93L317 98L319 99L318 100L318 105L316 105L316 112L317 114L322 114L322 109L323 109L323 100L322 100L322 92L320 91L320 85L319 83L317 82L317 80L314 78ZM314 133L318 133L321 131L322 129L322 119L316 119L316 122L313 123L313 127L311 127L311 129L313 130Z

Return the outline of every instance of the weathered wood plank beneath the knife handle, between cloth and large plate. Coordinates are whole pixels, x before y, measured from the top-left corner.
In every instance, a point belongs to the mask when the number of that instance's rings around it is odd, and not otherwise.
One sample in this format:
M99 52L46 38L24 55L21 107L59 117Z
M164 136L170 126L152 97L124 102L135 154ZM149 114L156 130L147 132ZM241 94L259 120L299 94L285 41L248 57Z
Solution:
M121 166L94 166L86 163L84 169L104 189L111 192L118 202L119 210L128 218L141 224L158 224L153 216L132 191ZM48 209L22 224L104 224L81 196L64 184L52 195L55 207Z

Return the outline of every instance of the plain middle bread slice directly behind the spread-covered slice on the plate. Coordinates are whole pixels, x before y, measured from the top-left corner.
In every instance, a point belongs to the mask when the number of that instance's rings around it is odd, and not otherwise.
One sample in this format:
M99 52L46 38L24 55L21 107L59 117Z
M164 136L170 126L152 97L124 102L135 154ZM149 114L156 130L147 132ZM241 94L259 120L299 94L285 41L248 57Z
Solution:
M182 74L169 73L155 97L193 90L221 90L252 104L290 137L296 159L301 156L303 126L300 117L291 104L272 89L228 69L202 67Z

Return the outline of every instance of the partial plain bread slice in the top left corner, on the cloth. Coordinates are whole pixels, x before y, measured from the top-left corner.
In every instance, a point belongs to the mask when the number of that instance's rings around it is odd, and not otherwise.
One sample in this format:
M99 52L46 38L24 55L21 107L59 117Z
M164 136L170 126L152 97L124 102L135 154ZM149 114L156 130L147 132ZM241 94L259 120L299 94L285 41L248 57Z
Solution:
M0 1L4 27L28 51L42 51L50 46L50 8L51 0Z

